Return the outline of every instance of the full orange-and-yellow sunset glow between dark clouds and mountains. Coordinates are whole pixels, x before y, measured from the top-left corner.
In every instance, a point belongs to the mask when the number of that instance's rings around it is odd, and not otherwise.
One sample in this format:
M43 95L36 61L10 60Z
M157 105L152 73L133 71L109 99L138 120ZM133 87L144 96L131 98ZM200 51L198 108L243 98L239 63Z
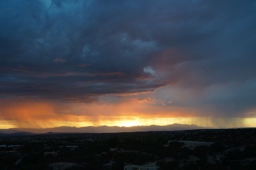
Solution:
M40 100L1 101L0 129L60 126L141 126L195 124L204 127L256 127L256 117L206 117L185 108L156 106L148 100L56 103Z

